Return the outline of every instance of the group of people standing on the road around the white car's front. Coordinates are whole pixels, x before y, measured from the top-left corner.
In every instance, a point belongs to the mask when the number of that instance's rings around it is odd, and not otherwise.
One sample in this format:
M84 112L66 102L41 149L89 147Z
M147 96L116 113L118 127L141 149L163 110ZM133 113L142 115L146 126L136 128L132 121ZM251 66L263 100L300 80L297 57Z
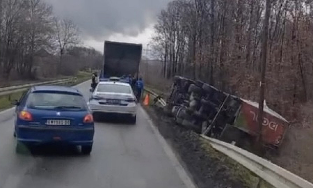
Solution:
M96 81L97 77L98 77L97 73L92 74L92 78L91 78L92 84L94 85L97 84L97 81ZM131 85L136 95L137 101L140 101L141 94L144 88L142 78L139 77L139 79L137 80L135 76L128 75L128 76L122 76L121 79L125 79Z

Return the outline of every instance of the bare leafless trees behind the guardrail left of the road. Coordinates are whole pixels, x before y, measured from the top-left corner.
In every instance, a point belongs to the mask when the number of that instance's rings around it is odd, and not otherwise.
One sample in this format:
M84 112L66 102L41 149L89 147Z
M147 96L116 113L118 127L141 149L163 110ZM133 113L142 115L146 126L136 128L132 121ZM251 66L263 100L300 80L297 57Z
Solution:
M68 66L64 65L67 48L79 43L79 28L69 19L57 18L49 3L0 0L0 77L9 79L14 73L19 78L32 78L36 56L42 55L42 50L53 56L46 57L49 61L44 62L55 64L55 70L49 71L63 73ZM99 58L101 54L96 56Z

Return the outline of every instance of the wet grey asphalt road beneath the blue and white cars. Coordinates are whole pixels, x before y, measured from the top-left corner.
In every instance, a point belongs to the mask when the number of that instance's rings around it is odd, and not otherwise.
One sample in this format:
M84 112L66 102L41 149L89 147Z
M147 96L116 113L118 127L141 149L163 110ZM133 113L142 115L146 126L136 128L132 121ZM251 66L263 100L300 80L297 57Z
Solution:
M85 82L77 87L86 99L90 95L89 86L90 83ZM54 147L16 154L13 110L2 112L0 187L190 187L186 172L177 164L172 151L150 123L141 107L137 109L136 125L121 121L96 123L95 142L90 156L80 154L77 148Z

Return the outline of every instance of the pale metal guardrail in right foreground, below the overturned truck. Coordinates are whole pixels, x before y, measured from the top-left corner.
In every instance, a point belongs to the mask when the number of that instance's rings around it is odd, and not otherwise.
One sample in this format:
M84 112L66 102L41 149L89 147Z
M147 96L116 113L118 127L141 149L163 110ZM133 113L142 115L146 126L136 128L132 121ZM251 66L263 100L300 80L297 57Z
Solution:
M212 147L231 159L237 161L260 178L277 188L313 188L313 184L291 172L254 155L244 149L232 144L209 138L201 135L208 140Z

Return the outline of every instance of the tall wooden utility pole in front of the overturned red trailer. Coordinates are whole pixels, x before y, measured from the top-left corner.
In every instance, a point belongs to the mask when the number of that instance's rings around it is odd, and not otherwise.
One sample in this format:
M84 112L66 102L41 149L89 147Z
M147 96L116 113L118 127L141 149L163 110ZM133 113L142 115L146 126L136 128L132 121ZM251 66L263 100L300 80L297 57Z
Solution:
M260 81L260 100L259 100L259 114L258 124L259 133L257 136L257 142L262 141L262 127L263 127L263 107L264 107L264 92L265 92L265 73L266 73L266 58L267 58L267 41L268 41L268 30L269 30L269 15L270 15L270 0L266 0L265 4L265 17L263 21L263 38L262 38L262 70L261 70L261 81Z

